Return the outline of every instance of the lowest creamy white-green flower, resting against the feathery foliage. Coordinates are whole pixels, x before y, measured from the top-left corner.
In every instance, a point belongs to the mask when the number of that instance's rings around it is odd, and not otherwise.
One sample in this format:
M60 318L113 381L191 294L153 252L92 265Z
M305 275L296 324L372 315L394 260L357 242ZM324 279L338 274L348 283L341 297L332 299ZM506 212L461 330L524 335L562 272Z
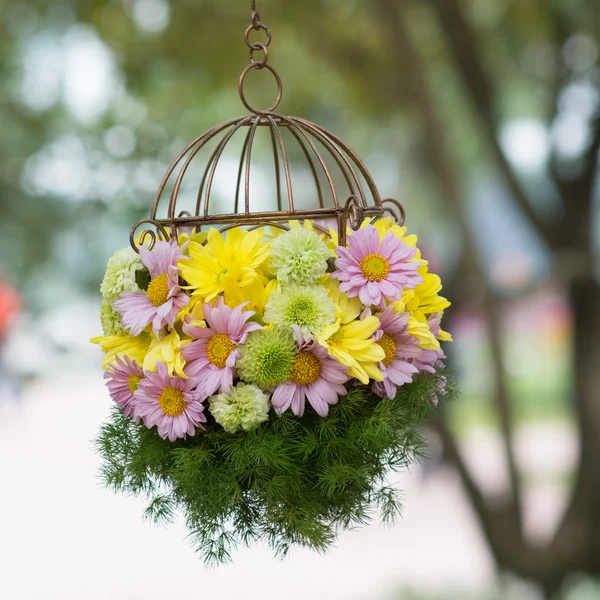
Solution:
M208 399L215 421L229 433L240 429L256 429L269 418L269 396L252 384L238 383L231 394L218 394Z

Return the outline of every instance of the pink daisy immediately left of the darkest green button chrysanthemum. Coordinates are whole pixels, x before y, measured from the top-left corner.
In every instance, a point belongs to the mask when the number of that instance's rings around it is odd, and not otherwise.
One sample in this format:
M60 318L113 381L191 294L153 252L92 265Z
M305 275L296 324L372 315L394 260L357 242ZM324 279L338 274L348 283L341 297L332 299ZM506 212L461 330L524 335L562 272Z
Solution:
M208 302L204 305L208 328L189 323L183 326L183 331L197 340L185 346L181 355L187 361L186 373L196 379L203 398L212 396L220 387L226 394L231 393L235 363L240 358L237 347L251 331L262 329L248 320L254 316L253 311L242 311L246 304L230 308L219 297L214 306Z

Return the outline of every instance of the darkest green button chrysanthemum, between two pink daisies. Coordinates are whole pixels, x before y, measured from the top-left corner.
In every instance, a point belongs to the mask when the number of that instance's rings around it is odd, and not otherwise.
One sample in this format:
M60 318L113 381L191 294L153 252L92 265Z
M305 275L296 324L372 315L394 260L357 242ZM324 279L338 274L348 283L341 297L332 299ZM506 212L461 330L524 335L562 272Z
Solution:
M236 366L244 381L269 389L289 379L296 357L291 331L276 327L256 331L240 350L242 358Z

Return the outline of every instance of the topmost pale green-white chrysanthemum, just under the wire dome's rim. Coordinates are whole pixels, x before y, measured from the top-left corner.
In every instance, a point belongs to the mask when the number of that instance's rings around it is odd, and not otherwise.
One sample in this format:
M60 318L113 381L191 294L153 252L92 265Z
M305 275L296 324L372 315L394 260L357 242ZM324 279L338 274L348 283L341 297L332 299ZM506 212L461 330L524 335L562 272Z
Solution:
M283 283L315 283L327 271L329 248L314 232L292 229L271 242L271 264Z

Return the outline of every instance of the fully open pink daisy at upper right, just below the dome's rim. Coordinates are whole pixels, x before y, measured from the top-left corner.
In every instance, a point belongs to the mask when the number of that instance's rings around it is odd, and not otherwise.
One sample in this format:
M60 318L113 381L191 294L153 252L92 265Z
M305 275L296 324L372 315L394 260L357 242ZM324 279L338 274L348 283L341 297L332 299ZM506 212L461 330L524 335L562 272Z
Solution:
M365 306L385 308L385 299L395 302L403 290L423 282L413 261L417 249L407 246L392 232L380 240L373 225L367 225L348 238L348 248L338 246L337 270L331 276L340 280L340 290L350 298L358 296Z

